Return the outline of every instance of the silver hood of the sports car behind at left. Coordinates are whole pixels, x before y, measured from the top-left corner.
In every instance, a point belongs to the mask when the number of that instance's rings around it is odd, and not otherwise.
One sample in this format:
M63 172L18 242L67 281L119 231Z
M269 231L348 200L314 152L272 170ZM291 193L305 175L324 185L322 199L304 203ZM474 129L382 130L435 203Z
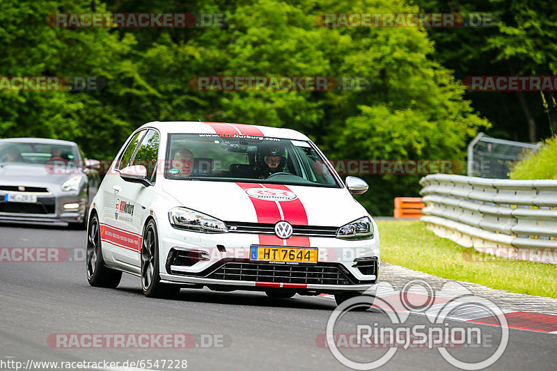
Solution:
M74 168L73 171L56 174L47 170L47 166L39 164L0 164L0 185L45 187L49 184L62 184L75 175L83 173Z

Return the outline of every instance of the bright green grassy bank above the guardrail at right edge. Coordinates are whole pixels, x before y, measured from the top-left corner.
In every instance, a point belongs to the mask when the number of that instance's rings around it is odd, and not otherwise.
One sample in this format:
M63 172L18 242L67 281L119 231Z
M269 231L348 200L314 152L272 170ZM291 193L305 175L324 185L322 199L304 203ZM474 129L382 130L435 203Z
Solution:
M517 162L510 179L557 179L557 135L547 139L538 152Z

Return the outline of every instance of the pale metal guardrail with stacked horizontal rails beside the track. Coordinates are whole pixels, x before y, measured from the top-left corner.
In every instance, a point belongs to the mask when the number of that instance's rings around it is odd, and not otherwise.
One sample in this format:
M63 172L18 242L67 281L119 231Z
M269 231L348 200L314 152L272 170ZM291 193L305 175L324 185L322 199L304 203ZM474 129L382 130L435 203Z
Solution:
M505 247L531 256L524 250L550 249L557 255L557 180L434 174L420 184L420 220L436 235L483 251Z

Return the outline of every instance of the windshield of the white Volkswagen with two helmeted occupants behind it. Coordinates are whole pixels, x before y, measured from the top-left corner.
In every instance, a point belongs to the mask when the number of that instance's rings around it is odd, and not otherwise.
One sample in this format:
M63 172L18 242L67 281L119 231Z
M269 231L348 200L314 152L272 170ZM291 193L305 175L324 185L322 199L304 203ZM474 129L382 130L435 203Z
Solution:
M307 141L267 136L169 134L165 177L340 187Z

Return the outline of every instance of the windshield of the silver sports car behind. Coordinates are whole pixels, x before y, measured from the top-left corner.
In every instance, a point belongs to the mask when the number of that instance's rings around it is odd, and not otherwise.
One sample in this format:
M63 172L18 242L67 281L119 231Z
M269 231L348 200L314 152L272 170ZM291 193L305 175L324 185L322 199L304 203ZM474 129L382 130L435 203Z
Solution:
M0 143L0 162L47 164L49 161L77 161L72 145L46 143Z

